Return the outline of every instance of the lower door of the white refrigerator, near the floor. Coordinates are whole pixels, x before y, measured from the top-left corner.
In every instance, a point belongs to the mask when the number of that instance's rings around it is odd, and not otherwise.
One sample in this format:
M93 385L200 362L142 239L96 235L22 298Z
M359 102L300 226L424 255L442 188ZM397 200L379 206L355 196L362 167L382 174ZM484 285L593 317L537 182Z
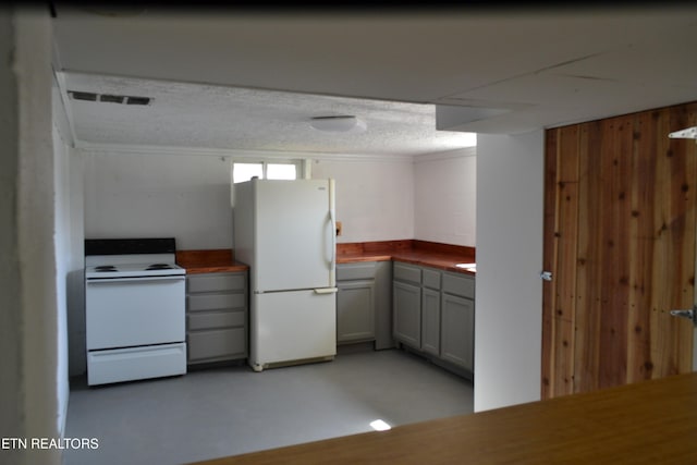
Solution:
M256 371L272 364L333 358L337 295L329 291L253 294L249 365Z

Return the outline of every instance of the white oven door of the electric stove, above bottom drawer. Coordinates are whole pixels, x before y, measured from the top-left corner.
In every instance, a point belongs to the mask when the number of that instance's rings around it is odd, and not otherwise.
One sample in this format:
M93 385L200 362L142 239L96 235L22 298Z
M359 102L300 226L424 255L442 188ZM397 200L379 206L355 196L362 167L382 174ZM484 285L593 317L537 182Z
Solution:
M87 280L87 350L185 340L185 277Z

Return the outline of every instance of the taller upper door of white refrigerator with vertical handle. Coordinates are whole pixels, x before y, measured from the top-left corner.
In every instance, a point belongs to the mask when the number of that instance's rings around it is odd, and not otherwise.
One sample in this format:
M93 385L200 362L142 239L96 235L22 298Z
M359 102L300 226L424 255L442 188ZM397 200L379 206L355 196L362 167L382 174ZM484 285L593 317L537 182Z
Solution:
M254 291L334 285L331 180L256 180Z

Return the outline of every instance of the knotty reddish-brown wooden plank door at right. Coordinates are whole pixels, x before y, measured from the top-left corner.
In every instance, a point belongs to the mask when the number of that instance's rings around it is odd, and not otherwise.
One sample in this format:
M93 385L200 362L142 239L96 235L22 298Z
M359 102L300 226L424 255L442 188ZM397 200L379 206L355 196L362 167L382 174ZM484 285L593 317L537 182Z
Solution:
M542 399L692 371L697 103L546 132Z

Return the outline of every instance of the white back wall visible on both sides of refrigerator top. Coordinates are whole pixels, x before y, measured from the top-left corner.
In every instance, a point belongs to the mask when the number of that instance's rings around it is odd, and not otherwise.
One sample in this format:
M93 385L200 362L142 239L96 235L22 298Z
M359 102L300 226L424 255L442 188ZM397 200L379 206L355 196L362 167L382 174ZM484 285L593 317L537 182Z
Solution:
M85 152L86 237L176 237L180 249L232 247L230 160ZM414 237L414 164L316 160L313 178L337 180L339 242Z

